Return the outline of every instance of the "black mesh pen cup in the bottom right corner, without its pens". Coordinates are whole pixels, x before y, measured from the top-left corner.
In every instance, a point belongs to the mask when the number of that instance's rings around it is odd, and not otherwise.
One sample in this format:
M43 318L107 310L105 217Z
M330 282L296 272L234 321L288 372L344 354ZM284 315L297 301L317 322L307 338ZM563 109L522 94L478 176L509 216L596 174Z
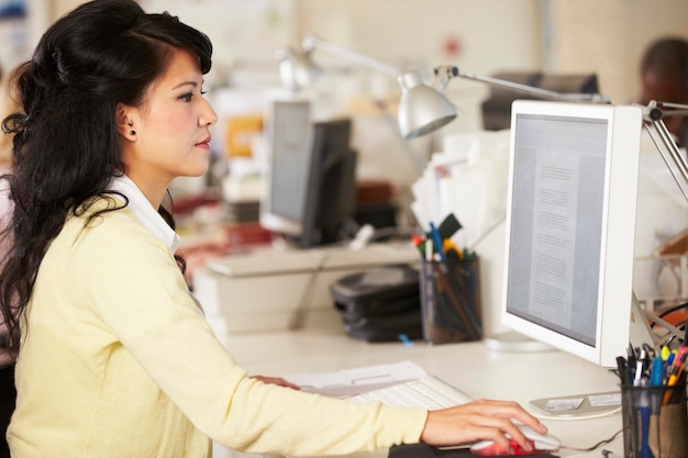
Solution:
M625 458L688 457L686 384L621 386Z

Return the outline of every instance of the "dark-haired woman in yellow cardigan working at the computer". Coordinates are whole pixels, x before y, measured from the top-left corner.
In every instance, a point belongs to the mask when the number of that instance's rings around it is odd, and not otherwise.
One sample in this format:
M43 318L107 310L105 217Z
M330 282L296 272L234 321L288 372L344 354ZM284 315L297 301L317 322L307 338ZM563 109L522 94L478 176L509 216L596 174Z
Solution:
M0 279L19 349L13 458L333 455L545 427L511 402L436 412L354 404L246 377L174 257L162 203L208 167L206 35L132 0L57 21L19 72L13 245ZM158 212L160 214L158 214ZM13 311L19 311L19 319Z

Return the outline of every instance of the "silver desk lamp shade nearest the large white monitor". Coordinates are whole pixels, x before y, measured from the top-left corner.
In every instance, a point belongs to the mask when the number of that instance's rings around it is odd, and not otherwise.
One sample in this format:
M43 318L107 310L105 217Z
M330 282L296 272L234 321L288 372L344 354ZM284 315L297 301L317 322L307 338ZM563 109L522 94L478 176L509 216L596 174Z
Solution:
M446 97L423 83L418 71L399 76L399 129L406 139L436 131L456 118L456 108Z

